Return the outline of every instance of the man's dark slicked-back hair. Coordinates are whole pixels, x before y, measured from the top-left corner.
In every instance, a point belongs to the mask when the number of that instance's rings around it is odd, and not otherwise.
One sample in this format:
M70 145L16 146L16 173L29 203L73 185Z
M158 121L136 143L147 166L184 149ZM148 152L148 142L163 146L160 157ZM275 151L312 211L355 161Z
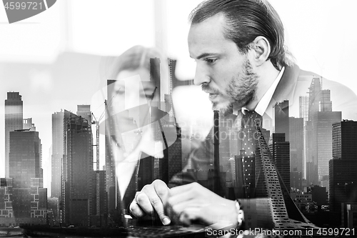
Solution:
M273 6L264 0L208 0L193 9L189 19L198 24L206 19L223 14L226 18L225 36L236 43L238 50L246 54L249 44L257 36L264 36L271 46L268 59L280 70L291 66L292 56L284 46L283 23Z

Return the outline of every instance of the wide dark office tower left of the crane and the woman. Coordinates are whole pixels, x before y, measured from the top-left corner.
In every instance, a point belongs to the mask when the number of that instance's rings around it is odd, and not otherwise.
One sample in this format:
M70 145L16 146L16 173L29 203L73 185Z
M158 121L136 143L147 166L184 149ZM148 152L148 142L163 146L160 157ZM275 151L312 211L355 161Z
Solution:
M79 106L80 107L80 106ZM88 108L52 114L51 197L59 198L61 222L88 225L93 214L93 149Z

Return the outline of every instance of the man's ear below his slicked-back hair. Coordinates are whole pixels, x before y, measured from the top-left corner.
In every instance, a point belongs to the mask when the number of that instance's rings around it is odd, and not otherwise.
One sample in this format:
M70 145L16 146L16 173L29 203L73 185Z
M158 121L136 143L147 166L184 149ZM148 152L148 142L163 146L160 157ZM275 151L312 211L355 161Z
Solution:
M256 66L263 64L270 55L270 44L264 36L256 36L256 39L251 43L251 49L253 50L253 61Z

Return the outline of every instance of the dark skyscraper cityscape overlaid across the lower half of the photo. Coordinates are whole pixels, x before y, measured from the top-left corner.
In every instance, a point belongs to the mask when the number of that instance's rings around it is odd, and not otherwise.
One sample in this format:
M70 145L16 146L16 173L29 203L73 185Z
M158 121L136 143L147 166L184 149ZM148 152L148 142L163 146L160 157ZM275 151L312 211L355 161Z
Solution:
M157 68L165 63L151 59L156 67L151 69L151 77L158 76L153 70L159 71ZM176 79L175 60L169 59L167 66L171 72L171 91L192 84L192 81ZM268 193L280 191L281 202L286 207L280 211L281 217L298 220L298 214L301 222L311 227L353 228L357 213L357 122L343 119L341 111L332 110L333 89L323 89L321 85L326 79L309 78L306 95L299 95L296 102L298 117L289 116L291 104L287 100L273 105L273 119L266 118L265 114L253 120L220 116L218 138L213 130L206 139L181 131L175 121L171 95L165 94L161 100L157 94L149 105L151 111L156 109L149 115L149 121L156 132L156 140L164 139L164 157L141 154L139 164L136 163L136 176L124 190L123 200L119 199L122 195L116 177L127 175L116 174L118 164L111 146L117 130L115 124L120 122L115 115L110 115L111 108L116 106L111 101L116 96L115 80L108 80L107 87L104 168L99 168L98 150L99 127L104 124L96 121L90 105L78 105L76 113L64 109L52 114L51 194L47 193L43 182L39 132L31 118L23 118L26 101L21 99L21 92L9 91L4 100L6 177L1 178L0 224L116 227L121 224L121 207L129 205L136 191L155 179L169 182L174 174L184 169L213 191L217 189L214 174L218 171L218 193L231 199L268 197ZM135 125L127 131L139 134L140 128L135 121L131 122ZM197 147L197 140L202 141L201 147ZM215 162L217 142L218 167ZM268 148L270 155L264 154L263 148ZM208 166L192 167L188 163L188 157L192 156L206 158ZM276 168L273 170L279 189L269 187L272 175L262 177L267 170L262 168L268 166L263 163L264 156L271 158L269 166ZM257 221L252 218L250 222ZM279 222L275 227L277 224ZM286 224L280 225L286 227Z

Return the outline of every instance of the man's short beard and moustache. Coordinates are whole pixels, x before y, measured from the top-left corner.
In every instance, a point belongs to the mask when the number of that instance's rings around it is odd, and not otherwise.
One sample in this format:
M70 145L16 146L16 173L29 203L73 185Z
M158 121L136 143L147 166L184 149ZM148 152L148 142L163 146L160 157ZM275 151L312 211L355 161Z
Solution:
M242 64L242 71L231 78L225 89L229 101L225 105L218 106L218 102L212 102L212 109L220 111L221 114L231 114L233 106L241 108L254 99L258 76L253 72L251 63L245 59ZM219 91L211 89L208 85L202 85L203 91L211 91L220 94Z

